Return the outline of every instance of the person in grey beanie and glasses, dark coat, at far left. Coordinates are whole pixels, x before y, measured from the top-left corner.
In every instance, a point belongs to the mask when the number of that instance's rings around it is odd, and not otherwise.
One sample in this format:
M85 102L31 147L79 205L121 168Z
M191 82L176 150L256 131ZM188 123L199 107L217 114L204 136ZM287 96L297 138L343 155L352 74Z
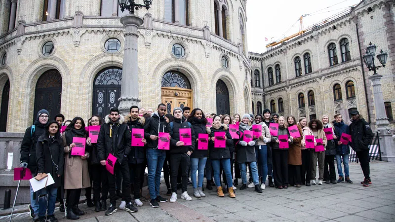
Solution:
M35 177L37 174L36 164L36 146L40 136L45 132L45 126L48 123L49 112L46 110L40 110L37 113L37 119L34 125L28 127L23 136L21 144L21 165L20 167L27 167L32 172L32 176ZM34 192L32 186L30 186L30 203L29 211L30 217L34 221L39 220L39 202L33 197Z

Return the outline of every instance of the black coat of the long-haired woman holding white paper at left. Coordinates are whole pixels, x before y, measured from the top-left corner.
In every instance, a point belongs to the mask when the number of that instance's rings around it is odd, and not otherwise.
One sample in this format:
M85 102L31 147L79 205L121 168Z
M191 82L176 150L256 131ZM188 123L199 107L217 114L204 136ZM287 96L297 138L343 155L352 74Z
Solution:
M41 135L36 147L37 173L50 173L55 184L53 187L62 185L64 166L63 141ZM60 177L58 177L60 175Z

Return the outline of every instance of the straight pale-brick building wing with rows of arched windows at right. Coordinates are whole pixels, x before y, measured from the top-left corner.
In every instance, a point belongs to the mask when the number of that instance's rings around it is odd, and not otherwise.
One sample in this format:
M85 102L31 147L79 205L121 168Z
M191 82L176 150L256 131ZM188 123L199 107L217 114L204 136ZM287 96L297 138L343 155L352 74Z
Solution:
M387 116L394 126L395 21L394 0L363 0L349 11L314 26L251 60L254 113L268 108L296 118L321 118L357 109L376 121L372 74L363 63L369 42L388 53L382 89ZM376 59L376 65L380 65Z

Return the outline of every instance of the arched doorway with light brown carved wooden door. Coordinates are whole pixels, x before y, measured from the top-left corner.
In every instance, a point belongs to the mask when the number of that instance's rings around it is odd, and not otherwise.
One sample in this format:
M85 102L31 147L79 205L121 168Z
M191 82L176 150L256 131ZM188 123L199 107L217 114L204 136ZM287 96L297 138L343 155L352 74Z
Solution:
M162 76L162 103L166 105L166 113L180 107L192 107L192 89L187 76L177 71L168 71Z

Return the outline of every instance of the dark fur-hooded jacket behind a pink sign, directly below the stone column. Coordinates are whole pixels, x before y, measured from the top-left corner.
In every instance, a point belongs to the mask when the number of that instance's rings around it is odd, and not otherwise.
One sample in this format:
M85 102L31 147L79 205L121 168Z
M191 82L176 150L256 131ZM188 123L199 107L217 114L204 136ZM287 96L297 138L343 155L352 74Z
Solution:
M144 128L144 123L145 123L145 118L144 117L138 117L135 121L131 121L131 116L127 115L125 117L125 122L129 126L129 133L131 135L132 129L143 129ZM145 146L144 147L131 147L129 156L127 157L128 163L143 163L145 160Z

